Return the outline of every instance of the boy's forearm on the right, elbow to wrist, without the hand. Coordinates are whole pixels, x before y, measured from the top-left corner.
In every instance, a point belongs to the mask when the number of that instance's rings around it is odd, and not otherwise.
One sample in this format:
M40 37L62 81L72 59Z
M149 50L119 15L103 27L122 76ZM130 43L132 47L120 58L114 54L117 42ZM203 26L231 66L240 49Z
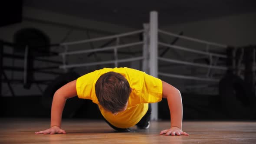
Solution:
M180 91L172 91L167 96L168 106L171 113L171 127L182 129L182 100Z

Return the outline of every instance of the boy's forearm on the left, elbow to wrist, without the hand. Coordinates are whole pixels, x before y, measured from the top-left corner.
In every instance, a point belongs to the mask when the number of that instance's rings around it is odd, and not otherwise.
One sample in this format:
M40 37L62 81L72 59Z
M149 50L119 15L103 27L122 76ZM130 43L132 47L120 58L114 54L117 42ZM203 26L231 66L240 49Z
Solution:
M53 126L61 126L62 111L66 103L66 98L55 92L53 96L52 111L51 111L51 128Z

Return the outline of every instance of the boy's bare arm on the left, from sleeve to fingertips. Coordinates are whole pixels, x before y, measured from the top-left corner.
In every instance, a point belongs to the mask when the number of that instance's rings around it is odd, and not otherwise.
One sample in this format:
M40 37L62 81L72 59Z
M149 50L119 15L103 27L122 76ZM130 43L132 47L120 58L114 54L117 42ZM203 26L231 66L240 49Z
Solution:
M76 93L76 80L67 83L59 88L54 96L51 111L51 128L44 131L36 132L36 134L66 134L66 131L60 128L62 111L68 98L75 97Z

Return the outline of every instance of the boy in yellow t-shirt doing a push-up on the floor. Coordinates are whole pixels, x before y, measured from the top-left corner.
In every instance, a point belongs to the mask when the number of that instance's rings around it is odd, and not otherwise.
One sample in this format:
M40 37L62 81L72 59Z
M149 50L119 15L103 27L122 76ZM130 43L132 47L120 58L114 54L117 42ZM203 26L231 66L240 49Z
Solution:
M98 105L105 121L117 131L130 127L149 127L151 106L167 98L171 112L171 128L160 135L188 135L182 129L181 93L158 78L130 68L104 68L81 76L59 88L53 96L51 128L36 134L66 134L61 129L66 99L78 95Z

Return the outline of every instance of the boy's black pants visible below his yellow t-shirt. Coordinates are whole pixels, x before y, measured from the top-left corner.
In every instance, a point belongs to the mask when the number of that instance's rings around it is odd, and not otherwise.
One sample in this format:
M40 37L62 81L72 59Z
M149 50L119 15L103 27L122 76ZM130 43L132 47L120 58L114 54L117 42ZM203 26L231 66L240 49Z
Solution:
M150 116L151 116L151 104L148 104L148 111L136 125L140 128L144 128L145 126L147 126L148 121L150 121ZM128 130L128 128L117 128L114 125L110 124L104 117L103 119L111 128L115 129L116 131L130 131Z

